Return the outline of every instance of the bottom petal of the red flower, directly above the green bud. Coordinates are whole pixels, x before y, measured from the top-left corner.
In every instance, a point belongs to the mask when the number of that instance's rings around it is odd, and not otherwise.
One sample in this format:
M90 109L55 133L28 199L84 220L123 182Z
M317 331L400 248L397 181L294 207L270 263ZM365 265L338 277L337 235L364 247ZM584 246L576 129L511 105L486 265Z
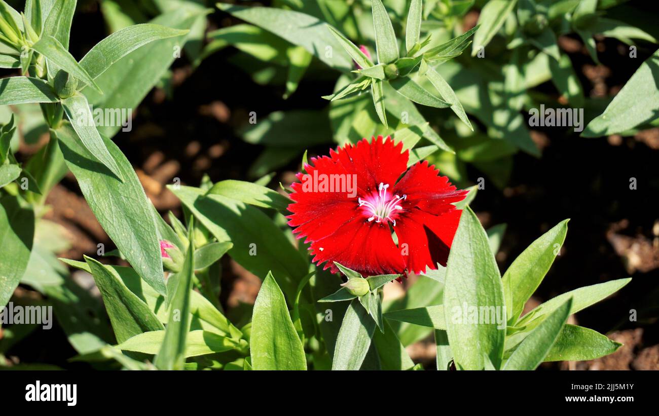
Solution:
M337 271L334 261L364 277L405 270L405 261L393 244L389 226L368 222L363 217L343 224L334 234L314 242L311 249L314 263L328 262L324 269L331 268L334 272Z

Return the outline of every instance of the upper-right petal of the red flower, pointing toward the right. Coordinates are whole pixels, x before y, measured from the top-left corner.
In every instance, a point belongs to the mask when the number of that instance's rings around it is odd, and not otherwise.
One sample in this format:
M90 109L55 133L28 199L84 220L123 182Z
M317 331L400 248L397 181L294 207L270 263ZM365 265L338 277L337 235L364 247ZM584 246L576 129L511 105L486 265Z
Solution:
M449 178L428 166L428 161L415 163L393 188L397 195L407 195L405 209L418 207L422 211L441 215L454 209L452 203L465 199L469 191L456 190Z

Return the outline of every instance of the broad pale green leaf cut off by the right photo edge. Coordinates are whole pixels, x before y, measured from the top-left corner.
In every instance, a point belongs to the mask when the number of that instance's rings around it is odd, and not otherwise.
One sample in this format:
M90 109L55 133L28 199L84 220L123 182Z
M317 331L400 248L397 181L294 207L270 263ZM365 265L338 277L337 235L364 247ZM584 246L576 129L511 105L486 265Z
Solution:
M641 65L617 93L604 113L586 126L581 136L600 137L643 126L656 118L659 108L659 51Z

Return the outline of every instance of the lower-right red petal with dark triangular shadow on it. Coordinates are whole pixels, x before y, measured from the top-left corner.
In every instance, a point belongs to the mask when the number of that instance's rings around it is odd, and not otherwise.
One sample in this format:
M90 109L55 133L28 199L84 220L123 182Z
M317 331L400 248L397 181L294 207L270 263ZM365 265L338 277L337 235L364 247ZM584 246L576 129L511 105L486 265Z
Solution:
M407 270L418 274L424 273L426 267L437 269L437 263L446 265L461 214L461 209L432 215L415 208L397 221L393 229Z

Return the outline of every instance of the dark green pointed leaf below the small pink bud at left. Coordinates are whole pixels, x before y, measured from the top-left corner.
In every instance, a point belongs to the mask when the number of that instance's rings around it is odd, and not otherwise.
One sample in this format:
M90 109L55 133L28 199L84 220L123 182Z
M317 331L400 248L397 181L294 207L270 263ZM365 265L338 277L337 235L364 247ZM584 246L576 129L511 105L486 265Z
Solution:
M165 329L150 307L130 292L109 267L87 256L84 259L103 296L103 304L119 344L142 332Z

